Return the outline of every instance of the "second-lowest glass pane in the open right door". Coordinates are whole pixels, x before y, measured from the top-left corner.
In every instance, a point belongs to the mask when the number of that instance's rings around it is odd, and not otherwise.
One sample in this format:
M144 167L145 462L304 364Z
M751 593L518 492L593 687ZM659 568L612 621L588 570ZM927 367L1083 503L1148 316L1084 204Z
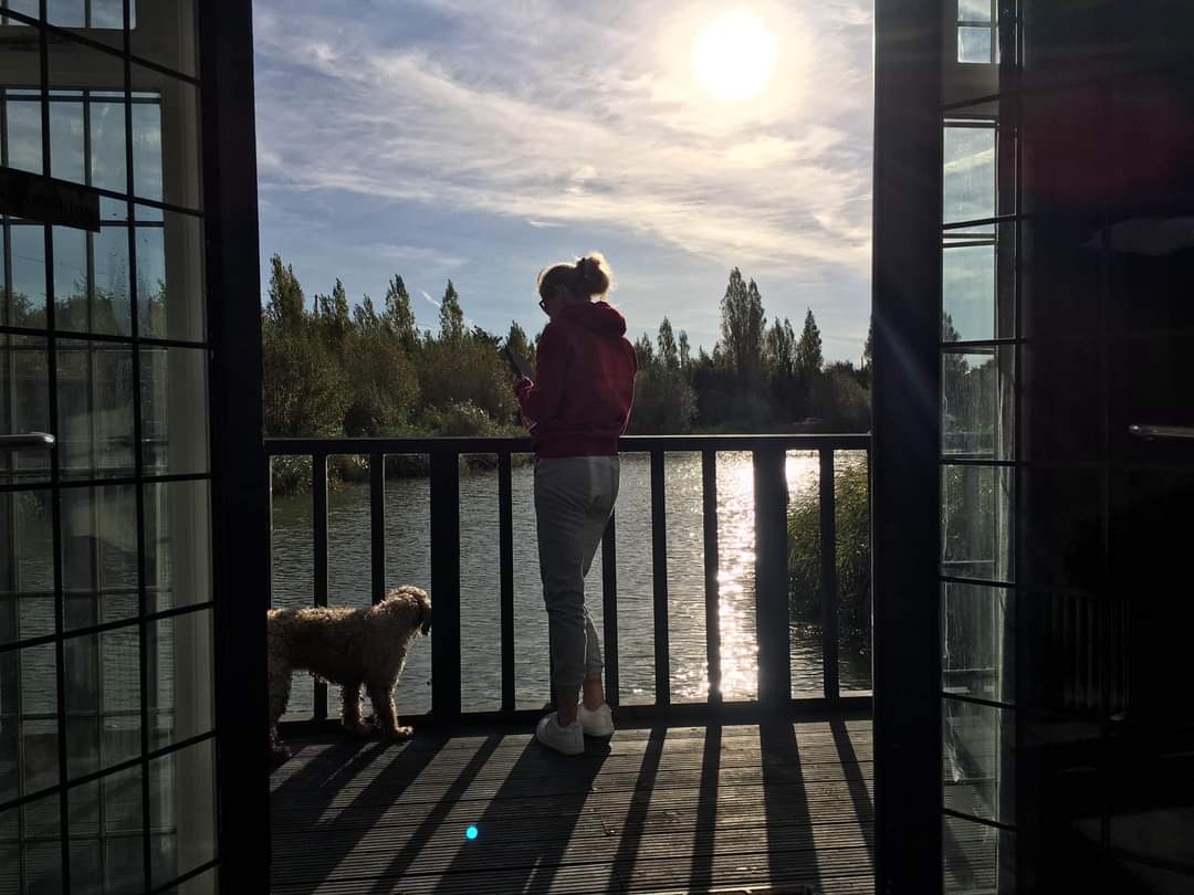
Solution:
M1015 823L1013 711L948 696L942 699L941 711L944 807L973 817Z

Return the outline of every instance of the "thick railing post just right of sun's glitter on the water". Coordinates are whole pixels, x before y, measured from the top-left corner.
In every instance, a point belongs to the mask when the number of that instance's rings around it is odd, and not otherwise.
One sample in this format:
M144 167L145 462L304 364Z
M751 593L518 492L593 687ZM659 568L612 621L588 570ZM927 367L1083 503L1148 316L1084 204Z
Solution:
M782 448L755 451L755 623L758 700L781 708L792 699L788 640L788 477Z

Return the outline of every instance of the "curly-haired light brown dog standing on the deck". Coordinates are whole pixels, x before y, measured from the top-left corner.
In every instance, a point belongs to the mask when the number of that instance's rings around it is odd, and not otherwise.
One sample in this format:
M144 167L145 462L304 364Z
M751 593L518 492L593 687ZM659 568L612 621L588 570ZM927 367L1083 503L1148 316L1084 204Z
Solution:
M406 653L419 631L431 631L431 598L418 587L398 587L368 609L271 609L266 613L270 677L270 748L275 759L290 752L278 740L278 718L290 698L290 673L309 671L344 692L344 727L367 735L361 720L361 687L369 691L374 716L389 740L402 740L411 728L399 727L394 686L406 665Z

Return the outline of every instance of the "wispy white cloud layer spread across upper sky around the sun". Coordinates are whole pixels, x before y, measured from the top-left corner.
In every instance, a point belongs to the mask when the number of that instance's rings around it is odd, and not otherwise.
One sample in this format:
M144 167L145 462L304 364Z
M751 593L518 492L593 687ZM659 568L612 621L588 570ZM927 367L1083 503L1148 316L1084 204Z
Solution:
M858 4L829 6L824 33L816 11L757 5L788 60L757 107L694 86L684 42L713 4L645 6L585 19L542 1L424 0L410 10L448 37L411 38L309 0L264 0L263 180L534 228L617 228L724 266L864 272L870 36L854 24Z

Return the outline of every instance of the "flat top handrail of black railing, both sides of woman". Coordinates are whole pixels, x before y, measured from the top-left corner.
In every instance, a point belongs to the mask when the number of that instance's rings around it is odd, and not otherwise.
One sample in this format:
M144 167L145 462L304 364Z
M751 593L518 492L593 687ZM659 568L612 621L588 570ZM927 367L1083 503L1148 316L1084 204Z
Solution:
M618 449L626 453L664 451L752 451L759 448L787 450L868 450L870 433L767 433L623 436ZM266 438L271 457L343 453L530 453L531 439L519 436L429 436L419 438Z

